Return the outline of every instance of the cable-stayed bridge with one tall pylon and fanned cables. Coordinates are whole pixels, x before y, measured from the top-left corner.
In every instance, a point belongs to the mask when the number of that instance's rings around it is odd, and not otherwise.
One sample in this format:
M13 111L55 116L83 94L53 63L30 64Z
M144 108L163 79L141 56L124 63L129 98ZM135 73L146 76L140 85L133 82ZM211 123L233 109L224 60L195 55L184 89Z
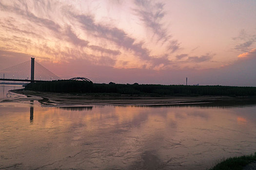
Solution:
M52 80L60 80L60 78L36 62L35 58L0 70L0 81L41 82Z

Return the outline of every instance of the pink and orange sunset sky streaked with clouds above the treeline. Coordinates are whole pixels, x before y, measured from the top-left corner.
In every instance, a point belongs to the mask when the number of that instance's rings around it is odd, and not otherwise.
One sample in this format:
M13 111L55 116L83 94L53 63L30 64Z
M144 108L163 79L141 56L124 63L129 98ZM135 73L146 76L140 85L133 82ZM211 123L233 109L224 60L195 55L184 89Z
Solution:
M256 86L256 0L0 0L0 70L95 83Z

